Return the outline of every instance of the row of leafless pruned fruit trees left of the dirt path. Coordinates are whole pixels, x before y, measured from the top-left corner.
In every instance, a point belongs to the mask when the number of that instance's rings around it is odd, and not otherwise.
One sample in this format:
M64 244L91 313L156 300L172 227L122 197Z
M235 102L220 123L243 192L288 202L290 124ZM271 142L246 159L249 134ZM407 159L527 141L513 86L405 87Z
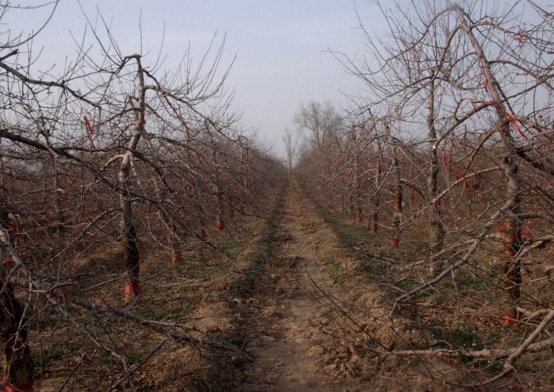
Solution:
M56 5L44 7L53 12ZM2 2L0 9L8 29L0 44L6 390L32 389L29 322L52 307L125 370L118 343L107 331L93 332L83 311L198 343L187 326L148 320L122 305L139 296L145 281L155 285L155 276L141 273L146 257L170 271L188 262L182 251L198 242L232 258L211 234L255 213L266 187L262 174L272 163L230 110L229 70L219 69L224 40L214 41L197 67L187 53L169 73L140 53L124 54L106 25L89 25L92 40L83 38L73 62L40 72L29 63L34 36L11 32L12 6ZM115 241L119 276L91 275L94 255ZM125 299L102 294L122 279Z

